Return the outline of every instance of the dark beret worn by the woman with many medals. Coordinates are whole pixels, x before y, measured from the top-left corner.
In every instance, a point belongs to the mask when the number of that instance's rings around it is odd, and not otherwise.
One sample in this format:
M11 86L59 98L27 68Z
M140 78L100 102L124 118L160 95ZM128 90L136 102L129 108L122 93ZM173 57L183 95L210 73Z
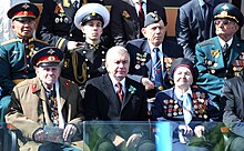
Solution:
M177 58L175 59L172 64L171 64L171 78L173 78L174 71L179 68L179 67L186 67L191 70L192 76L193 76L193 83L196 82L196 79L199 77L199 71L197 69L194 67L194 63L186 59L186 58Z

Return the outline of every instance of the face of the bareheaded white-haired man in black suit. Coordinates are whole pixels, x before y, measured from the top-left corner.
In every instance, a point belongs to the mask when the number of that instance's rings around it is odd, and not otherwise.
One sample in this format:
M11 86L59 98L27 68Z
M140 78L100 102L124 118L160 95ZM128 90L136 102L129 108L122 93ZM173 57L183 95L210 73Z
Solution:
M121 81L128 76L130 57L128 53L114 53L106 60L106 70L116 81Z

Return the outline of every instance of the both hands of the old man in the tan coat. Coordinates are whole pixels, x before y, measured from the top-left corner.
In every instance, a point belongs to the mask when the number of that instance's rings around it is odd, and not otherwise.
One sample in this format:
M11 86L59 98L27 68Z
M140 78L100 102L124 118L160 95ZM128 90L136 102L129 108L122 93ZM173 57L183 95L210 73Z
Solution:
M73 124L67 124L63 130L63 140L64 142L71 142L71 139L77 133L77 128ZM39 129L34 132L34 140L38 142L44 142L45 133L43 129Z

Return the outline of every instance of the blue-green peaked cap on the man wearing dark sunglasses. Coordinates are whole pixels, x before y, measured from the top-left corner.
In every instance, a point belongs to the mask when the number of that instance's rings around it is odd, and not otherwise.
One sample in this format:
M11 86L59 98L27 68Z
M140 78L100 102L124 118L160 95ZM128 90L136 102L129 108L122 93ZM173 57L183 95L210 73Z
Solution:
M230 19L235 21L240 27L243 26L243 14L238 8L231 3L220 3L214 8L214 19Z

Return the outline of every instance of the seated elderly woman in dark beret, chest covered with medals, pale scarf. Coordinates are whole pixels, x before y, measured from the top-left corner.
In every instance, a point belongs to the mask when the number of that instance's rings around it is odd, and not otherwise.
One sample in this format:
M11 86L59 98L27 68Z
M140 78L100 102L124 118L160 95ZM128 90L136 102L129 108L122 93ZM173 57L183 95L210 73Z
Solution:
M189 59L179 58L171 66L171 77L174 87L156 94L152 108L153 120L172 123L173 151L191 151L191 149L202 151L214 147L217 139L213 139L210 147L201 139L202 147L190 145L192 143L190 137L193 137L194 132L197 139L207 131L203 121L218 120L218 110L212 105L207 92L194 85L197 78L196 68Z

